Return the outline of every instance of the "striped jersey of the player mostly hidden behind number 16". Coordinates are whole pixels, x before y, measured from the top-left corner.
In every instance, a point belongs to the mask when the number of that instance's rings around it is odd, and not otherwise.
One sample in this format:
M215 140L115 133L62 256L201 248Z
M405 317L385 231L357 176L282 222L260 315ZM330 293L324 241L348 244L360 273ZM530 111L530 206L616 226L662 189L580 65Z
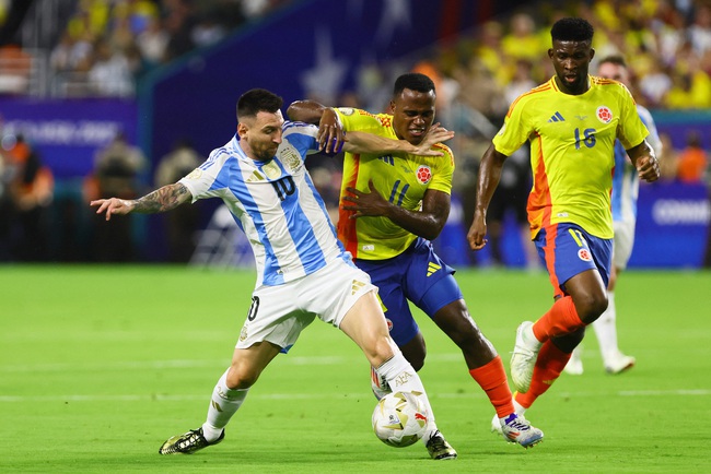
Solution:
M652 119L650 111L642 107L637 106L637 111L642 119L642 122L649 130L650 134L646 141L656 153L656 156L662 156L662 141L656 132L656 126ZM610 204L613 208L613 221L637 221L637 198L639 195L640 178L637 175L637 169L632 162L627 156L627 151L619 140L615 142L615 171L613 174L613 195Z

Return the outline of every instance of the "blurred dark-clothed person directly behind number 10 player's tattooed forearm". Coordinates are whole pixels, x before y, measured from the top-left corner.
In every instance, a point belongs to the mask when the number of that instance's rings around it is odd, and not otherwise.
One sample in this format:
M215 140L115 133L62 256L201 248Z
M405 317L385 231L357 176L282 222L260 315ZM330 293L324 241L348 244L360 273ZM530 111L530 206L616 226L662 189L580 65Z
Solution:
M155 186L161 188L176 182L200 166L205 161L187 140L180 140L174 150L163 156L155 169ZM196 247L196 233L200 227L201 208L182 205L164 215L167 232L167 258L171 262L187 262Z

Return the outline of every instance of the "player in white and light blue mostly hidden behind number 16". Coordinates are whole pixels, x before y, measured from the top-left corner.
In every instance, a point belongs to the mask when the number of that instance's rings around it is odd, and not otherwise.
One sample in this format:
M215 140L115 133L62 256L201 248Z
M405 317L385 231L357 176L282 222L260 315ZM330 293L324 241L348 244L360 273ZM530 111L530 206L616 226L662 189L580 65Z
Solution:
M621 56L608 56L597 64L597 75L613 79L630 86L630 71ZM656 153L656 158L662 157L662 141L656 132L652 114L637 104L637 112L642 119L650 134L646 138L650 146ZM639 195L640 179L627 156L625 146L617 140L615 142L615 170L613 175L613 269L607 285L607 309L593 322L595 336L603 357L603 367L608 374L622 374L634 366L636 359L623 354L617 344L617 308L615 305L615 285L617 277L625 269L632 254L634 246L634 226L637 224L637 197ZM575 347L566 365L566 372L570 375L583 374L581 346Z

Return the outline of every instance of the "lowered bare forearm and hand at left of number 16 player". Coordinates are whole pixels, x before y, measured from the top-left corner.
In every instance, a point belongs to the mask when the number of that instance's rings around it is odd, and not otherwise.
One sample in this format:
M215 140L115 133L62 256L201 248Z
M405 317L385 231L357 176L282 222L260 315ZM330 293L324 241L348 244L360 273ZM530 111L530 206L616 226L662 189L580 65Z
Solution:
M497 152L493 143L483 153L479 166L479 178L477 183L477 203L474 209L474 222L469 227L467 240L471 250L480 250L487 245L487 209L491 202L493 191L501 179L501 168L506 155Z

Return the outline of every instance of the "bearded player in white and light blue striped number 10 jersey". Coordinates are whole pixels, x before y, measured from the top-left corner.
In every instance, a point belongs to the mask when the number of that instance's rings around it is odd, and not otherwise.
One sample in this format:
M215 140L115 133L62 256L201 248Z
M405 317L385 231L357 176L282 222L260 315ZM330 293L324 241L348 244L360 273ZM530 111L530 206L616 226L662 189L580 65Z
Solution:
M224 439L224 427L244 402L261 371L281 352L287 353L315 318L342 330L358 344L398 391L420 394L429 417L422 438L434 459L454 459L434 423L424 388L387 331L377 288L359 270L336 238L326 206L306 171L304 159L319 149L318 128L284 122L282 99L266 90L252 90L237 102L237 133L188 176L137 200L92 201L96 213L165 212L206 198L221 198L252 244L257 282L252 306L236 343L232 364L219 379L201 427L174 436L161 454L190 454ZM432 141L438 141L432 134ZM440 129L439 138L452 133ZM429 152L419 146L351 133L345 150L393 153ZM361 149L362 146L362 149ZM446 445L448 450L430 447Z

